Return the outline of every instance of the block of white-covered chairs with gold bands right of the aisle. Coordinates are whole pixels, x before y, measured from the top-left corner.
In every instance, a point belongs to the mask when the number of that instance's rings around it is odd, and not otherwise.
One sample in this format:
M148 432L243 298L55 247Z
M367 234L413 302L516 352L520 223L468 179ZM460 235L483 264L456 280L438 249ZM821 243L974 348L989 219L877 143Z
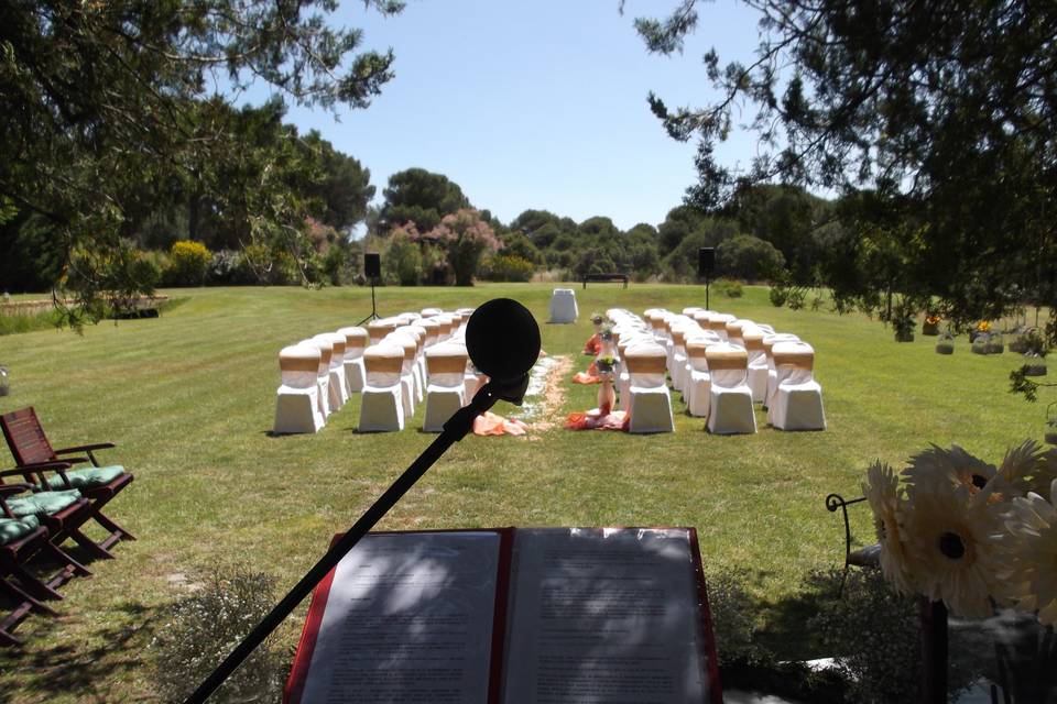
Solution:
M753 403L780 430L826 428L815 352L796 336L702 308L653 308L643 317L614 308L607 316L623 360L618 389L632 432L674 430L665 373L710 432L755 432Z

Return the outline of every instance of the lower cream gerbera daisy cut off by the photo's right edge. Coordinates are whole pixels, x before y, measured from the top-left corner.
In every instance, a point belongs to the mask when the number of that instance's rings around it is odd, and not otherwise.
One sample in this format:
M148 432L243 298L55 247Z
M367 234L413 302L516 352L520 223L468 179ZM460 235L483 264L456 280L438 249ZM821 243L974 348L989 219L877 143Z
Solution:
M1044 625L1057 625L1057 480L1049 502L1032 492L1013 499L1005 514L1002 571L1005 595L1020 608L1038 610Z

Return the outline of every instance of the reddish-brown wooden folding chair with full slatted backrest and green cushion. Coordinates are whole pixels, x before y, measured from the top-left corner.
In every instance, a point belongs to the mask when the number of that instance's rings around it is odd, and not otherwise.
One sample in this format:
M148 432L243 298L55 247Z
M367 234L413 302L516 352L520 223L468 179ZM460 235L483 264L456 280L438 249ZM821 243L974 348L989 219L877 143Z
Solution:
M102 507L133 480L132 474L126 472L123 466L118 464L102 466L96 460L95 451L113 448L112 442L55 450L47 441L47 436L44 435L41 421L32 407L3 414L0 416L0 428L3 429L3 437L8 441L18 469L23 471L26 482L37 483L39 477L41 490L76 488L88 499L89 517L108 531L107 537L97 543L98 550L86 548L90 553L97 557L113 557L109 552L113 543L119 540L135 540L131 532L102 513ZM66 457L78 453L86 453L87 457ZM74 464L83 462L90 462L91 466L72 469ZM54 472L57 476L48 477L44 472ZM72 534L70 537L80 543L76 535Z

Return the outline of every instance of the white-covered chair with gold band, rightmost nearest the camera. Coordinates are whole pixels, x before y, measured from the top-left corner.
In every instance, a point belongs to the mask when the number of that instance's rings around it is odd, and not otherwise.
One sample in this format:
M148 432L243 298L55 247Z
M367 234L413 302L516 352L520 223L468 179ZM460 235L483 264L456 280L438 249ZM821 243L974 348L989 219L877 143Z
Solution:
M767 410L778 430L825 430L822 387L815 381L815 350L806 342L776 342L771 350L777 372L774 406Z

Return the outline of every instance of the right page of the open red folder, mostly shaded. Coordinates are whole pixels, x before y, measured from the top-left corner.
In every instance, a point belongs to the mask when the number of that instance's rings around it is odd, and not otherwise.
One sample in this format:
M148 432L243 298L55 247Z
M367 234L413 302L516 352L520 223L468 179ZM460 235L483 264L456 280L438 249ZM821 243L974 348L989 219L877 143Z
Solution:
M706 701L687 530L519 530L514 564L504 702Z

